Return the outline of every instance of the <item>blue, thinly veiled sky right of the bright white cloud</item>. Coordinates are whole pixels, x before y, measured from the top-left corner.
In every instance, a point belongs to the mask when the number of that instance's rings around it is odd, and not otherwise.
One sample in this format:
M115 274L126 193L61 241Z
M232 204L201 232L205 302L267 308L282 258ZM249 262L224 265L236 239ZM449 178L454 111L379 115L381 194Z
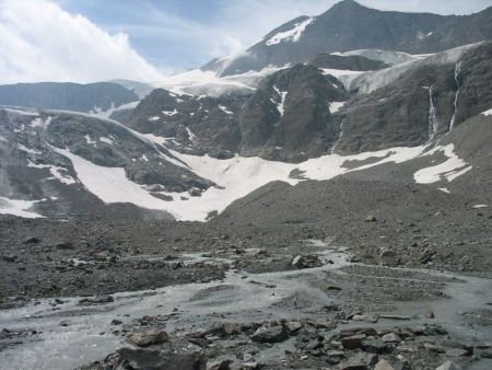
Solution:
M60 0L109 32L129 35L131 45L162 69L187 69L247 47L297 15L316 15L335 0ZM491 0L362 0L388 10L470 13ZM239 28L241 27L241 28ZM229 35L227 35L229 33ZM227 36L230 38L227 38Z

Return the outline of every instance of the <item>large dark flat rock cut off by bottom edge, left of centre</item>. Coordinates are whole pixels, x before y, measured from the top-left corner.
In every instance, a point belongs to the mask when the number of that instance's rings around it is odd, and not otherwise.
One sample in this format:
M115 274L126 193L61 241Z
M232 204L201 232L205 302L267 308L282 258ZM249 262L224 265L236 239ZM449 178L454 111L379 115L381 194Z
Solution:
M167 354L157 350L121 348L118 350L121 369L206 370L207 361L200 354ZM118 368L119 369L119 368Z

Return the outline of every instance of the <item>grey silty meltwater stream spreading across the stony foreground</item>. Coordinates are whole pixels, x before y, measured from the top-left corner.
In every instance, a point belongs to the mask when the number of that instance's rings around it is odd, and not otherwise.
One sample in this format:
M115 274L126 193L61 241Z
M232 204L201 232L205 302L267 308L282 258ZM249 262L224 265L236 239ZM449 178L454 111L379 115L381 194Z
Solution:
M0 351L0 369L61 370L87 365L128 346L121 336L112 333L115 329L110 325L114 319L130 323L144 315L169 314L175 308L178 309L178 314L167 322L166 329L169 333L208 328L216 322L218 315L226 317L222 320L239 322L300 317L306 314L305 305L302 309L304 311L295 311L276 303L296 294L306 298L313 309L333 303L333 299L314 287L312 280L323 278L324 271L347 274L341 268L350 265L350 255L345 248L328 247L319 241L313 241L313 245L323 250L318 253L321 259L331 259L332 264L312 269L265 274L230 270L221 281L121 292L113 294L114 302L89 308L78 305L80 298L66 298L65 303L56 309L50 305L51 300L45 299L22 309L0 311L0 327L14 332L35 329L39 333L22 344ZM188 255L189 259L194 257L200 261L206 258ZM220 259L221 263L226 262L226 258ZM453 329L456 332L467 329L460 326L459 320L455 320L457 312L492 301L492 280L434 271L426 274L456 279L456 282L449 282L446 288L452 299L433 302L442 311L436 323L454 323ZM274 289L271 289L272 286ZM412 314L419 305L422 302L406 302L397 311ZM61 321L68 322L68 326L60 326ZM380 325L385 325L385 322L380 321ZM481 338L488 334L470 332L469 335Z

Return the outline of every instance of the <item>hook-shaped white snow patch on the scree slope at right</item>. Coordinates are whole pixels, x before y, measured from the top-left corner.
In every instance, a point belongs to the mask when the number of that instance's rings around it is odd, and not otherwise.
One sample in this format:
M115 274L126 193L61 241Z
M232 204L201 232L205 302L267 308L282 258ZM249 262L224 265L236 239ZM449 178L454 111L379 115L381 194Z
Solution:
M444 180L446 180L447 182L450 183L452 181L456 180L457 177L459 177L462 174L470 171L471 166L468 165L468 163L465 162L462 159L460 159L454 152L454 149L455 149L455 146L450 143L446 147L436 147L433 150L423 154L422 157L433 155L436 152L441 151L448 159L441 164L417 171L413 174L413 178L415 180L415 183L433 184L433 183L437 183L437 182L444 181Z

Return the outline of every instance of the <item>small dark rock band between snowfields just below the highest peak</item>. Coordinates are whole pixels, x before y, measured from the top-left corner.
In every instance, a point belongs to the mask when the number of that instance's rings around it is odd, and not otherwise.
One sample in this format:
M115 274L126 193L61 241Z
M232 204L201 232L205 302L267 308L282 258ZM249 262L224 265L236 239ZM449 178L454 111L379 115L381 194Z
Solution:
M309 61L309 65L318 68L341 69L350 71L376 71L388 68L389 65L380 60L371 60L362 56L338 56L320 54Z

